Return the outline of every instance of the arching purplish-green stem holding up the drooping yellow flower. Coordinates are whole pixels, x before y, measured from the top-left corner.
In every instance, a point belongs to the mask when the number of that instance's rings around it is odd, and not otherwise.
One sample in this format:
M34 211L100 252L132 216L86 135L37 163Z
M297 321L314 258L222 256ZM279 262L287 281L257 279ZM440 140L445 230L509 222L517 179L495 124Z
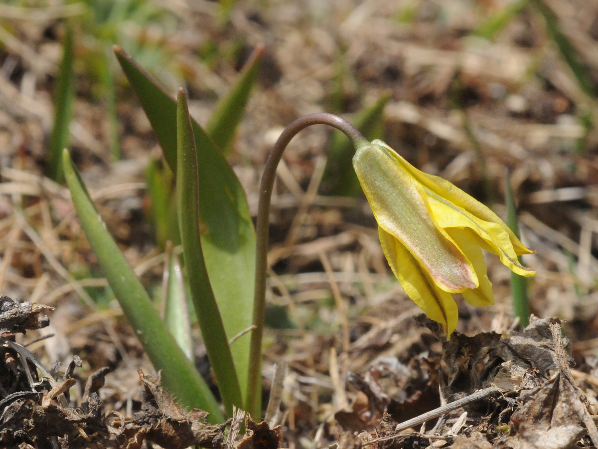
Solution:
M245 407L253 417L261 416L261 344L264 333L264 313L266 311L266 269L268 265L270 200L274 178L276 177L276 168L286 145L289 144L295 134L312 125L329 125L339 129L349 137L355 148L368 143L361 132L347 122L347 120L333 114L316 113L301 117L287 126L268 155L260 183L260 201L258 203L257 225L255 229L257 236L253 319L255 329L251 333L247 400L245 401Z

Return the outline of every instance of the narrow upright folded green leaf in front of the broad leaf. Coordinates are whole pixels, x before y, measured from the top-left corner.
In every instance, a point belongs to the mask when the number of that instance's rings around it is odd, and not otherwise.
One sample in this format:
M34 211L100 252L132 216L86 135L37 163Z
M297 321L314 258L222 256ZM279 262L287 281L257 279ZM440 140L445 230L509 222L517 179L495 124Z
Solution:
M179 229L181 230L185 269L210 365L212 365L218 382L218 389L227 414L232 416L233 405L243 408L243 400L228 338L203 260L199 232L202 219L199 216L200 186L197 150L187 98L183 89L179 90L176 112L178 143L176 204L179 211Z

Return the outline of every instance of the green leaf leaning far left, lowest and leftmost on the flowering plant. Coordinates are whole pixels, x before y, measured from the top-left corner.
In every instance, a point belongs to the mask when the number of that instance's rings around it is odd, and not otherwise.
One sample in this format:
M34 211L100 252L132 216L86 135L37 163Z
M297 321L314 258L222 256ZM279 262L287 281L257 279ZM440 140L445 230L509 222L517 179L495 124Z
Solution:
M163 386L183 406L201 408L209 412L210 422L221 423L224 416L209 387L164 326L141 282L106 230L67 150L63 151L62 161L81 226L135 335L156 371L161 371Z

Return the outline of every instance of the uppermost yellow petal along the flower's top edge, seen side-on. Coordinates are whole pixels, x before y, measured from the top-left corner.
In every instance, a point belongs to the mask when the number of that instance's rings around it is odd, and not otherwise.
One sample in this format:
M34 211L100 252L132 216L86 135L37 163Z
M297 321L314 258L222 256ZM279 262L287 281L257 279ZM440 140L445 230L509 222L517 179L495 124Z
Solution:
M454 205L462 210L467 211L469 214L477 217L478 219L484 220L485 222L496 223L502 227L502 229L507 232L509 240L511 241L511 246L514 248L516 255L535 253L535 251L530 250L519 241L515 234L512 233L511 229L505 225L498 215L493 213L485 205L481 204L481 202L477 201L477 199L463 192L463 190L459 189L459 187L454 186L449 181L444 180L441 177L429 175L418 170L405 159L403 159L398 153L396 153L395 150L385 144L385 142L381 140L374 140L372 143L389 150L389 153L394 157L394 159L396 159L401 168L407 171L412 177L421 183L425 189L430 190L432 193L435 193L441 198L449 199Z

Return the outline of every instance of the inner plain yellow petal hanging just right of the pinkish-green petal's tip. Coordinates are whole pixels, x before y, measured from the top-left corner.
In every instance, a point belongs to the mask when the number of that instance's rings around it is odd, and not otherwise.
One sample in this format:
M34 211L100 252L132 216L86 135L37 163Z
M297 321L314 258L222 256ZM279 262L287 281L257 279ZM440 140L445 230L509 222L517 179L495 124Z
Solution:
M478 281L480 281L480 286L477 289L464 290L461 295L465 301L474 306L484 307L494 304L492 283L487 275L484 254L482 254L474 232L471 229L459 228L447 229L447 232L474 265L475 274L478 275Z

